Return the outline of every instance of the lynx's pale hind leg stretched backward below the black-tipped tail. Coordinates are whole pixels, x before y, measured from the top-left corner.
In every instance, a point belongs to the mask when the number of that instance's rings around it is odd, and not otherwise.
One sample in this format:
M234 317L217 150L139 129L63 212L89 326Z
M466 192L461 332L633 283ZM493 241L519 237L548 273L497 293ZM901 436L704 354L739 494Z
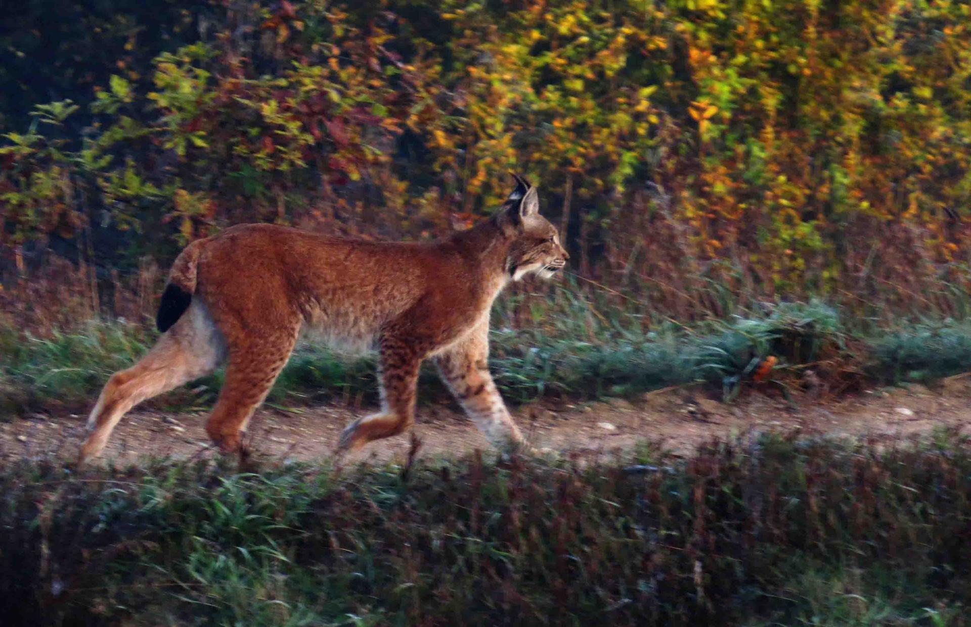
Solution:
M200 307L163 334L137 364L105 384L87 419L90 432L79 464L96 457L121 417L138 403L212 373L222 358L221 336Z

